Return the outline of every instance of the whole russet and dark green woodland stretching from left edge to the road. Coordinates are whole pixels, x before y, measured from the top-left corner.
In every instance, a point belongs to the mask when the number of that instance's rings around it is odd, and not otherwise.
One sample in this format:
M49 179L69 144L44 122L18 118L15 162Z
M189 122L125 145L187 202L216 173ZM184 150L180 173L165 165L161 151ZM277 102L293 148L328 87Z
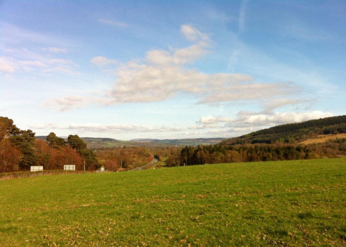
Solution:
M44 170L62 170L64 165L75 165L76 170L95 170L104 166L111 171L131 169L153 160L145 147L92 150L78 135L67 139L49 133L45 140L36 139L32 130L20 130L13 120L0 116L0 173L27 171L30 166Z

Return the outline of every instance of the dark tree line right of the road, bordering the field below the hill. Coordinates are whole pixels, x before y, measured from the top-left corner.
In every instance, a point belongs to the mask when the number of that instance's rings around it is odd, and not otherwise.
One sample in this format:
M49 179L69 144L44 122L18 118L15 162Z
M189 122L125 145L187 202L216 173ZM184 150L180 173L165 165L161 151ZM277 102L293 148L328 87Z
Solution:
M186 146L172 153L166 165L203 165L215 163L277 161L346 157L346 139L310 145L244 144Z

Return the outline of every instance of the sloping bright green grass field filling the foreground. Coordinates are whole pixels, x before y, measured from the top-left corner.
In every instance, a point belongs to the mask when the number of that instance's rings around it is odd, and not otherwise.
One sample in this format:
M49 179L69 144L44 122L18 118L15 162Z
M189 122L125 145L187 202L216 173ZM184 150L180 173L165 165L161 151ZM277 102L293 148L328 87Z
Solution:
M0 180L0 246L345 246L346 159Z

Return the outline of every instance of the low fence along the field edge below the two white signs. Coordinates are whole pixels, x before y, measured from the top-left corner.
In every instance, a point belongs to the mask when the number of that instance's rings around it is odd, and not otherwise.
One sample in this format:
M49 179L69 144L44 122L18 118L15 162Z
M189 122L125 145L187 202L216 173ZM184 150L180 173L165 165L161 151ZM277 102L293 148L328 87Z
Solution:
M16 173L0 173L0 180L12 178L37 177L46 175L64 175L64 174L84 174L96 173L96 171L72 171L72 170L43 170L43 171L18 171Z

